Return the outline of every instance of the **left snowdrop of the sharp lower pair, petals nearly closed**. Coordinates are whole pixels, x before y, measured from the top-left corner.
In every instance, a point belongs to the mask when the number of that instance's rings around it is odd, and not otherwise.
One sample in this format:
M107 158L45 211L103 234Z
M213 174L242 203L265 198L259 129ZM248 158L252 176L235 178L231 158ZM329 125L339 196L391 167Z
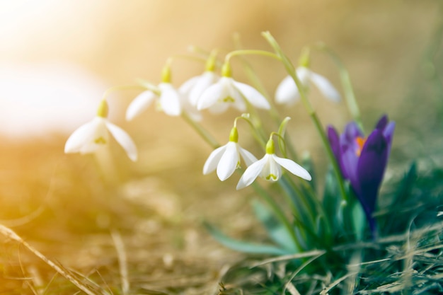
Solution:
M246 149L241 148L238 144L238 132L237 128L231 129L229 136L229 142L224 146L220 146L214 149L209 155L203 166L203 174L209 174L217 169L217 176L220 180L224 181L228 179L237 168L240 168L240 158L246 163L246 166L251 165L257 158L253 156Z

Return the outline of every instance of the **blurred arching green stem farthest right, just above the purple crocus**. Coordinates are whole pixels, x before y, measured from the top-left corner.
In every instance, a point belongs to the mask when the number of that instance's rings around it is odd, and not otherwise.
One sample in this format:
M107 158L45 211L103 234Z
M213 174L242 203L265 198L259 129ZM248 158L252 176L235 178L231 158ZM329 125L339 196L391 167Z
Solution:
M335 54L335 52L333 52L333 50L331 50L325 44L321 43L317 45L316 48L329 54L330 58L333 59L333 62L335 62L335 65L338 67L338 71L340 73L340 81L342 82L343 90L345 91L347 108L351 113L352 119L357 123L357 125L364 133L362 115L360 113L357 100L355 99L354 89L352 88L350 75L345 67L345 64L343 64L340 57L338 57L338 55Z

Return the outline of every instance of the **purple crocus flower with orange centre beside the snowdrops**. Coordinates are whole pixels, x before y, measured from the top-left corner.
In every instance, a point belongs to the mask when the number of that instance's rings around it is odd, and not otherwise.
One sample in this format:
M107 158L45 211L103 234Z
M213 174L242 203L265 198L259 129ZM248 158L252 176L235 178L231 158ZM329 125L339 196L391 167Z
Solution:
M352 190L362 204L373 236L376 226L372 213L396 126L395 122L388 121L386 115L381 117L375 129L366 138L355 122L348 123L345 132L340 136L334 127L328 126L330 146L343 178L350 181Z

